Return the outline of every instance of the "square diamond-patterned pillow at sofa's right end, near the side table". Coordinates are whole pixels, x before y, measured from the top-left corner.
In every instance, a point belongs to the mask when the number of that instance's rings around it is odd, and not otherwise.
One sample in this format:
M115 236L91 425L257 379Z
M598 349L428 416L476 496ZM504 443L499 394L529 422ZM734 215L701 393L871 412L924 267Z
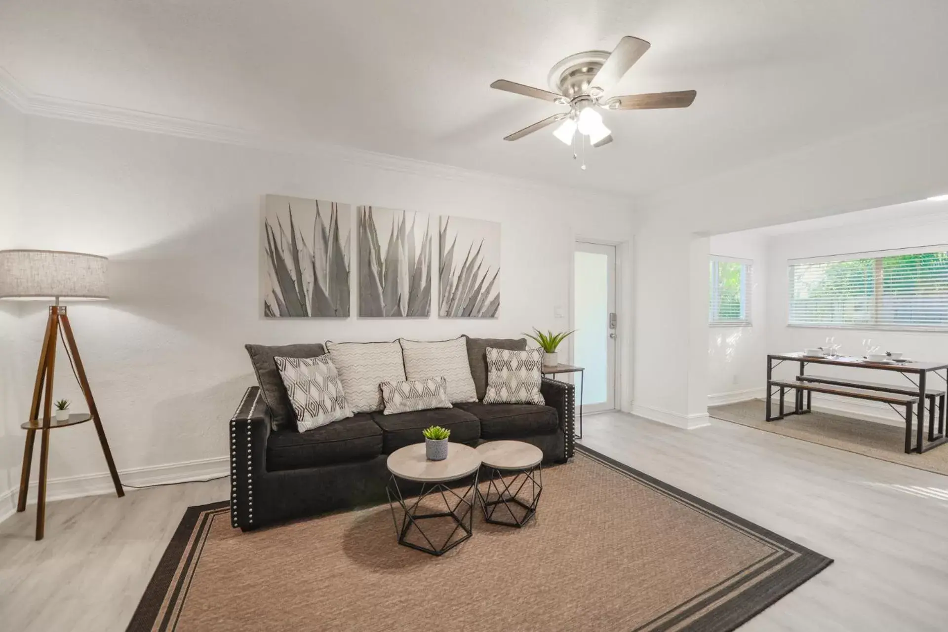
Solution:
M487 348L484 404L546 404L539 392L542 349L523 352Z

